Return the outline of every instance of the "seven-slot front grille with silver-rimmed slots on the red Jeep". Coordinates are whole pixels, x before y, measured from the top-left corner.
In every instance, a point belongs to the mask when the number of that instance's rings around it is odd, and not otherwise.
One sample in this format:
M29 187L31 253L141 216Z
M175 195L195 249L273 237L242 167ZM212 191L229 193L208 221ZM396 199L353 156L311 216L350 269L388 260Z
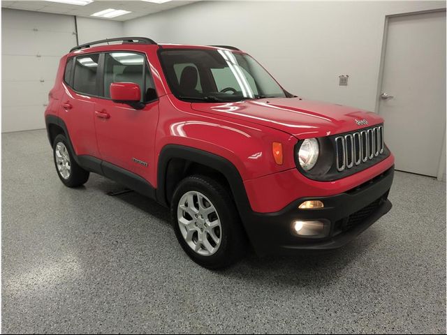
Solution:
M337 170L360 165L383 153L383 126L335 137Z

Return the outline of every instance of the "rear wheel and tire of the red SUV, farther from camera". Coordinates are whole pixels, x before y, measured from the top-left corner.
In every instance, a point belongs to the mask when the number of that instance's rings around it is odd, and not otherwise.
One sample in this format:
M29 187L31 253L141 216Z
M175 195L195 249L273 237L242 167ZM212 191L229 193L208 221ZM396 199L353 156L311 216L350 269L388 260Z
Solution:
M54 138L53 158L57 175L62 183L68 187L84 185L89 180L90 172L84 170L76 163L71 146L62 134Z

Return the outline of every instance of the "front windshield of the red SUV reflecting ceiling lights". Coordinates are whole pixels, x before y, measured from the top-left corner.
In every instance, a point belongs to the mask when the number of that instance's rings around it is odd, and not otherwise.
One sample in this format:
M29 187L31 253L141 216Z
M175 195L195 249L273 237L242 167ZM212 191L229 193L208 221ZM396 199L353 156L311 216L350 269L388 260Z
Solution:
M169 87L186 101L284 98L284 89L248 54L230 50L161 50Z

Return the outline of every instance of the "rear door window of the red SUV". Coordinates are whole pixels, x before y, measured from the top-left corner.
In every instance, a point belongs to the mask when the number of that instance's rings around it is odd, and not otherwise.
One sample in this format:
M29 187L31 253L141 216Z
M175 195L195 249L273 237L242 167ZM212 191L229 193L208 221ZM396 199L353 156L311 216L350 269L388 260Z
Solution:
M73 89L80 93L98 95L97 72L99 54L87 54L76 57L75 74L73 76Z

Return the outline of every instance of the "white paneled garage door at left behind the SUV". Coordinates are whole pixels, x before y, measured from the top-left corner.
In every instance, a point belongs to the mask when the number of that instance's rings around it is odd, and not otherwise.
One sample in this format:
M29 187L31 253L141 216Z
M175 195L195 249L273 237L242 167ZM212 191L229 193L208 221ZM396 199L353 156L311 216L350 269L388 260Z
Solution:
M59 59L76 45L71 15L1 10L1 131L45 128Z

